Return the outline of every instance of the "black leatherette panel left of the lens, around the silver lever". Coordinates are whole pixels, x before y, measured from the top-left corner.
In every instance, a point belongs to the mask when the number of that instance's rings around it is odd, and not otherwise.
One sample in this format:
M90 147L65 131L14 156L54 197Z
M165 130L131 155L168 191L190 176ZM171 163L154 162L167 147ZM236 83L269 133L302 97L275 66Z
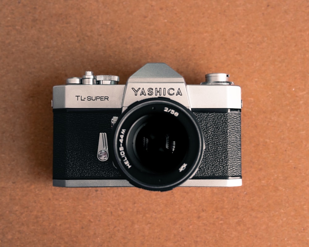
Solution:
M119 111L65 112L54 110L53 179L111 178L121 176L112 159L97 159L99 133L108 136L112 147L111 119ZM112 150L109 150L111 156Z

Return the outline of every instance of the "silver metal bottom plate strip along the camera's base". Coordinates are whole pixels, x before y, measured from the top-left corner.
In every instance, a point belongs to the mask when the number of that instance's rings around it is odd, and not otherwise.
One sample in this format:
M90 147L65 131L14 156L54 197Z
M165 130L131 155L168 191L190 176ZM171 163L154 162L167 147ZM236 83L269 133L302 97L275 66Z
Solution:
M242 179L188 179L180 187L234 187L241 186ZM53 179L53 186L58 187L134 187L125 179L84 179L57 180Z

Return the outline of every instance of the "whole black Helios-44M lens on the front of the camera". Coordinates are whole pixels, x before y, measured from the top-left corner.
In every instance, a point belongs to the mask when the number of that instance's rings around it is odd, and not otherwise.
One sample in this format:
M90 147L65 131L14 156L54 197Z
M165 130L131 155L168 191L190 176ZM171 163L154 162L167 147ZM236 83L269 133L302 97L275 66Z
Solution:
M134 103L113 133L116 166L140 188L170 190L191 178L202 158L204 139L195 116L167 98Z

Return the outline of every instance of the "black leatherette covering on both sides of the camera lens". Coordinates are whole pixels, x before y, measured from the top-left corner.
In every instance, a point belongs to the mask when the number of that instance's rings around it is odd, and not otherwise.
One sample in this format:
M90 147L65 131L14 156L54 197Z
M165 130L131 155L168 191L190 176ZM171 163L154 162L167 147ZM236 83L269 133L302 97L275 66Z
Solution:
M114 111L54 110L53 179L123 179L112 158L97 159L99 133L112 148ZM241 176L240 113L194 112L205 138L205 151L193 178ZM110 154L112 150L110 150Z

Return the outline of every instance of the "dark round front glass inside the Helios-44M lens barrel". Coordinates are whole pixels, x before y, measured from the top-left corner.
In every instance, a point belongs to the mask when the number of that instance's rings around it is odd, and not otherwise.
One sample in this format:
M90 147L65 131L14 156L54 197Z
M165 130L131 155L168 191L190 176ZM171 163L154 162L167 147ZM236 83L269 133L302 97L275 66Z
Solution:
M188 151L188 133L172 116L151 114L132 126L132 149L140 169L164 174L177 169ZM133 156L133 158L134 158Z

